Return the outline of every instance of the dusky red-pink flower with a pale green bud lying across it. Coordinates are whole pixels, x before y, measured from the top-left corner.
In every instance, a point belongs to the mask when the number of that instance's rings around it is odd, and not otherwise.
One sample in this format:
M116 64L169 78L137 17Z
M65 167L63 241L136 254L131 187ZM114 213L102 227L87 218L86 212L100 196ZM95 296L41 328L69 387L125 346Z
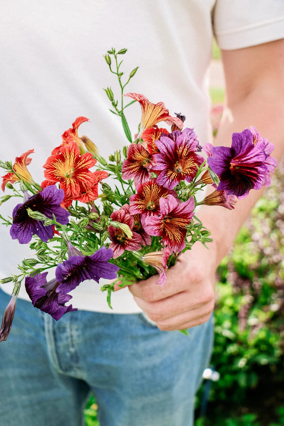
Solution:
M134 225L133 216L126 213L123 208L114 211L110 217L113 221L125 223L132 230ZM140 243L142 242L142 237L136 232L133 232L132 237L129 238L122 229L109 225L109 238L112 240L109 248L113 250L113 259L119 257L124 250L133 251L141 249Z

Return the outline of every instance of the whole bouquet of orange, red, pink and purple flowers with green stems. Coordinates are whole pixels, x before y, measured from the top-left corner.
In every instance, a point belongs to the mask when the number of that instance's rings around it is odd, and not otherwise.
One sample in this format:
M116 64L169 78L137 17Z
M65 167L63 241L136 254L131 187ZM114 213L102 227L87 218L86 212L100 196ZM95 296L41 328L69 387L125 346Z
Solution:
M194 130L184 128L184 115L173 117L163 102L153 104L144 95L124 94L138 69L122 83L119 58L125 53L126 49L112 49L105 55L118 78L120 104L110 87L104 90L112 103L110 111L121 119L128 146L107 161L89 138L79 137L80 124L89 120L78 117L43 164L45 180L40 185L27 167L33 150L14 164L0 161L8 172L1 188L11 191L0 203L20 197L11 218L0 218L10 227L11 238L32 250L32 257L18 265L19 273L1 280L14 282L14 290L3 315L0 341L11 330L22 282L34 307L59 320L77 310L66 303L80 282L113 280L101 287L111 308L115 283L124 287L158 272L156 284L162 286L166 269L182 252L197 241L204 245L212 241L195 216L198 205L231 210L235 196L242 199L250 189L270 185L277 164L270 155L272 143L251 127L233 133L230 148L201 146ZM124 106L125 97L132 101ZM134 102L141 105L142 117L132 140L125 109ZM171 126L169 130L157 127L162 121ZM196 193L207 185L214 191L198 202ZM48 280L50 268L56 268L55 278Z

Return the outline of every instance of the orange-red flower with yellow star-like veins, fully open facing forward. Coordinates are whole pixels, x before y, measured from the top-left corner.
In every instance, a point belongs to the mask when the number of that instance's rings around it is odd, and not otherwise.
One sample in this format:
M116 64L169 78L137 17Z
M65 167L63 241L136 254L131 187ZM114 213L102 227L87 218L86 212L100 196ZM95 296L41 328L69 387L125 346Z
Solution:
M97 183L96 176L89 170L96 164L91 153L80 155L78 145L72 142L61 148L60 154L47 158L43 167L44 177L52 182L60 182L66 197L75 199L80 194L80 185L91 188Z

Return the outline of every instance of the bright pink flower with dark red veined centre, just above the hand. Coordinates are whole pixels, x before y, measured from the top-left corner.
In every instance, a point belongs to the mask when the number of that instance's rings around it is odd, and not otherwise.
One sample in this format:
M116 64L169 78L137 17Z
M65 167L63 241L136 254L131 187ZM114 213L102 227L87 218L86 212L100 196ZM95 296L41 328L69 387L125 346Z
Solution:
M195 202L193 197L183 203L172 195L160 199L160 216L149 216L145 219L145 230L149 235L162 237L164 245L169 246L170 253L185 248L186 225L193 216Z

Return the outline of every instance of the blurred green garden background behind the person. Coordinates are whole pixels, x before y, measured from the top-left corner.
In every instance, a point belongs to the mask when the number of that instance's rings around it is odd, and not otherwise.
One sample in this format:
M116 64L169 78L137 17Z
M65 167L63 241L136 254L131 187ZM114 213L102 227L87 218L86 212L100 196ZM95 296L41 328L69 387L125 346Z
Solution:
M212 46L212 127L222 115L221 55ZM221 208L221 207L220 207ZM284 425L284 163L241 229L216 277L215 343L206 417L204 385L196 396L195 426ZM86 426L99 426L92 397Z

